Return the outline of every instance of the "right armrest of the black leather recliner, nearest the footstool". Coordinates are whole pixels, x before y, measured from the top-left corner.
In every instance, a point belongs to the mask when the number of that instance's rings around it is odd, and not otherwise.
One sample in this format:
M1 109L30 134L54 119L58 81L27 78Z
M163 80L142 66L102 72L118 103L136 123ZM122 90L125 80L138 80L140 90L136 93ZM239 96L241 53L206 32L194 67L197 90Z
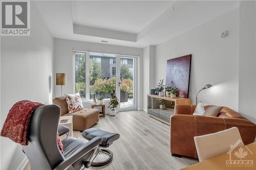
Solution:
M82 156L86 155L88 152L93 150L102 142L101 137L95 137L90 140L88 143L84 144L83 147L76 150L72 155L70 155L67 159L63 160L58 166L54 168L54 170L62 170L62 169L69 169L73 163L75 163L78 159ZM72 168L70 168L72 169Z

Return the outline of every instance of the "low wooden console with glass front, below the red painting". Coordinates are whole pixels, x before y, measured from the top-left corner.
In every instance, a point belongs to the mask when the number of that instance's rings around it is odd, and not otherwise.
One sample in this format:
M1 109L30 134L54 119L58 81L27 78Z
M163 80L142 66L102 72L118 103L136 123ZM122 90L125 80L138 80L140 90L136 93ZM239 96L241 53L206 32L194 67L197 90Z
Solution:
M165 104L166 109L160 109L159 100ZM175 105L190 105L188 98L170 98L155 94L147 94L147 115L170 125L170 115L174 114Z

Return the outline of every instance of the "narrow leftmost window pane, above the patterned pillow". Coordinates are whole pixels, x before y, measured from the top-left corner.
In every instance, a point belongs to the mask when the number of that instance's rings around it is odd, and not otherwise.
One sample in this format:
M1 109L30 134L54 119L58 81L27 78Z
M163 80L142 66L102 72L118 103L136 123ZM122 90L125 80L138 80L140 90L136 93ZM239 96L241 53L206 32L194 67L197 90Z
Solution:
M86 53L75 52L75 91L86 98Z

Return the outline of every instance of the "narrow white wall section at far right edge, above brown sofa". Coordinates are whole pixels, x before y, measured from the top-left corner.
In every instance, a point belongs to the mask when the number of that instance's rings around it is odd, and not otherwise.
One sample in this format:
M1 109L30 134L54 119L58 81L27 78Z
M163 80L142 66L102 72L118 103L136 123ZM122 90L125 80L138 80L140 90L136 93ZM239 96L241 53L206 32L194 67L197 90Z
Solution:
M239 112L256 123L256 3L240 2Z

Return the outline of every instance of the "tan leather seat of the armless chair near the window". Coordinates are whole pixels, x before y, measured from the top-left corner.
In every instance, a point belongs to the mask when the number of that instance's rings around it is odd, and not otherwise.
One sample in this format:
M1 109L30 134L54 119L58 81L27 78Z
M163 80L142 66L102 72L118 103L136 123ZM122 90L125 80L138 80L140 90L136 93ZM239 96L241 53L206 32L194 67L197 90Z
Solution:
M99 122L99 110L84 108L82 110L67 113L64 116L73 115L73 129L83 131Z

